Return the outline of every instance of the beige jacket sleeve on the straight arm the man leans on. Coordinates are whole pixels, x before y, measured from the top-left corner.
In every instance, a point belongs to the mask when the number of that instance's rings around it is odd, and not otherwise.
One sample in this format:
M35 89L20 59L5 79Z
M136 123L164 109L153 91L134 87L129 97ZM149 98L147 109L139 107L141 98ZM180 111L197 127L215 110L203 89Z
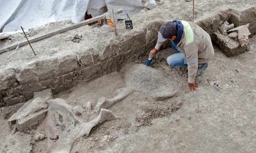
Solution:
M184 51L188 70L188 82L194 83L198 68L198 45L196 42L192 42L184 47Z

